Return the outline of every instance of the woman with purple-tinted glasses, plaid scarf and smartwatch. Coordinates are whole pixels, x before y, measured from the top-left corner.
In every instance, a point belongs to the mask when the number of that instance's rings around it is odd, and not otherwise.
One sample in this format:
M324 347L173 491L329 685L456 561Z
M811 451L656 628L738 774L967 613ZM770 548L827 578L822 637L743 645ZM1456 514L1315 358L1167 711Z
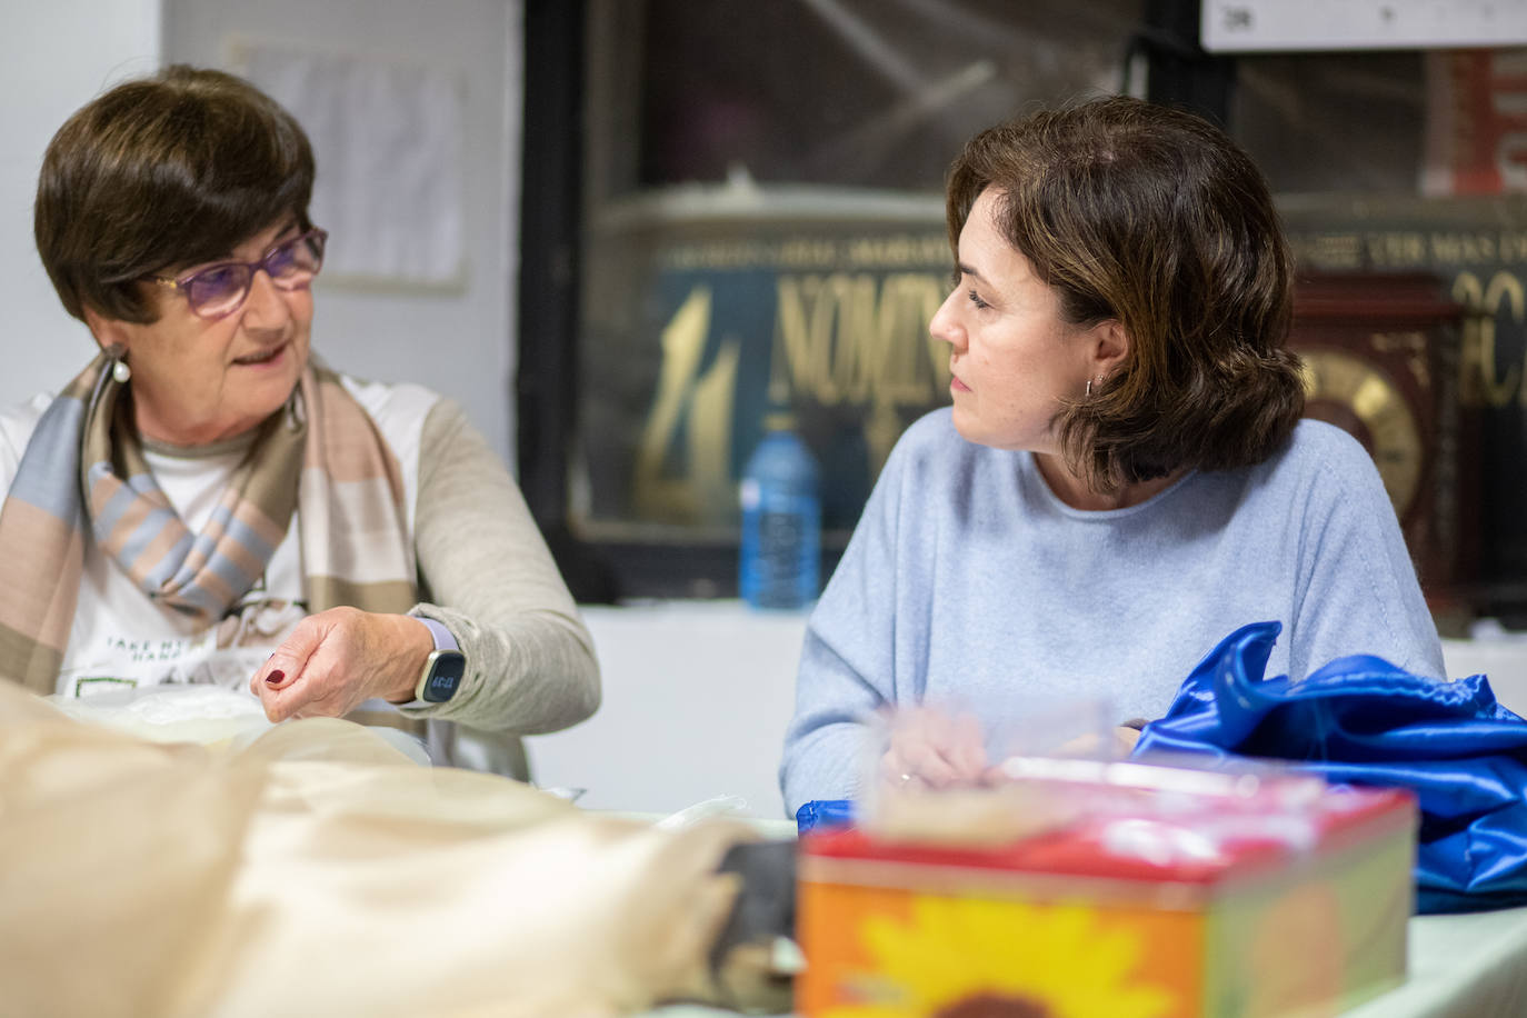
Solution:
M118 85L53 137L37 247L101 353L0 417L0 675L249 684L275 720L586 717L588 632L461 409L310 356L312 186L296 121L214 70Z

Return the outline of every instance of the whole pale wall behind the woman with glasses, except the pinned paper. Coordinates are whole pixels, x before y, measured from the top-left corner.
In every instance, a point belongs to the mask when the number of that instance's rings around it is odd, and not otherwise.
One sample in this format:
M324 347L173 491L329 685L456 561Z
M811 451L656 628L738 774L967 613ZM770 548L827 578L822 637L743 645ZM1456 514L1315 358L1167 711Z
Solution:
M43 150L64 119L160 63L228 66L231 34L397 56L466 81L469 279L460 293L316 287L315 348L344 371L411 380L466 406L508 459L518 272L521 0L47 0L6 3L0 61L0 406L56 389L90 356L32 246ZM160 31L162 29L162 31ZM318 168L324 172L322 165Z

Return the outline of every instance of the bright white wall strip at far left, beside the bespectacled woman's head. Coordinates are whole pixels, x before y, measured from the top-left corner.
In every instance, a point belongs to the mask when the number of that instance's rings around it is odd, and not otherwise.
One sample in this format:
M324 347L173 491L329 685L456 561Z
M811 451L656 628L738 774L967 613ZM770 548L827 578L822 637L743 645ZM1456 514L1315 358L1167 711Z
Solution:
M95 350L58 304L32 244L32 200L53 131L108 84L159 64L159 0L6 3L0 60L0 408L73 377Z

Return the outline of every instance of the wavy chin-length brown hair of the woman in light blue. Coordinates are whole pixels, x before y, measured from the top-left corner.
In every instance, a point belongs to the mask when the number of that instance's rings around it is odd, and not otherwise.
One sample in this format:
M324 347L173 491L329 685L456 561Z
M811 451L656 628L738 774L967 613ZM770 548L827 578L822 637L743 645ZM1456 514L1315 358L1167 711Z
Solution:
M1121 369L1055 421L1095 490L1251 466L1289 438L1304 412L1284 348L1293 259L1267 182L1222 130L1122 96L988 128L950 169L956 261L986 188L1061 314L1130 336Z

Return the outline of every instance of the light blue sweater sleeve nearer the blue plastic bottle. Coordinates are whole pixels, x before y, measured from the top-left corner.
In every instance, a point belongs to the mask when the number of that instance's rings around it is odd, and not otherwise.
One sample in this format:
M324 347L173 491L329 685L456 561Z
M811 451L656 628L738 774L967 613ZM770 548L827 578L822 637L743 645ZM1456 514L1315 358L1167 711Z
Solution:
M779 769L791 817L811 800L858 794L861 777L872 766L867 722L895 699L904 443L881 470L854 537L806 623L796 675L796 713L785 731Z

